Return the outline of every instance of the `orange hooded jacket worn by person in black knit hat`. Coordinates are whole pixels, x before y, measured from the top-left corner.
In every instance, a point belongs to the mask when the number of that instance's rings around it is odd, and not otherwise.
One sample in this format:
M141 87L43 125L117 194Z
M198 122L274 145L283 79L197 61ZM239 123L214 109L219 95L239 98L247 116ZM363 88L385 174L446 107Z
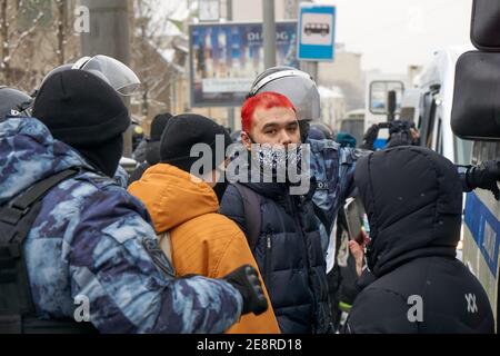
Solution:
M258 269L244 234L217 212L219 202L213 189L196 180L177 167L157 165L129 188L148 208L157 234L169 231L176 273L222 278L242 265ZM161 246L164 248L164 244ZM263 286L260 273L259 277ZM269 309L259 316L242 316L228 334L280 333L266 287L264 294Z

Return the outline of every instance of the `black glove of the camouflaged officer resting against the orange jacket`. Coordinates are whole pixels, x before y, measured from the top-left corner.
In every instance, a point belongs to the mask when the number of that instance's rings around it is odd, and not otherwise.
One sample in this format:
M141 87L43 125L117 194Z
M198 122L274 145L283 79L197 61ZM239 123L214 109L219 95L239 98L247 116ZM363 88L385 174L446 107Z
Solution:
M266 299L263 294L256 268L249 265L242 266L223 277L223 279L238 289L243 297L242 315L249 313L260 315L268 309L268 299Z

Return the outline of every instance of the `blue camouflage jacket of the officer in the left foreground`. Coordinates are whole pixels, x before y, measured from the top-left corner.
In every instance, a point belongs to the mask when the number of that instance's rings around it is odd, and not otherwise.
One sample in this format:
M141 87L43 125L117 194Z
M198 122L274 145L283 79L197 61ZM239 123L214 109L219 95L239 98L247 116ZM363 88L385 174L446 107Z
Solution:
M0 206L69 167L42 200L24 244L37 316L72 318L81 296L102 333L220 333L241 314L222 280L177 279L139 200L54 140L36 119L0 123Z

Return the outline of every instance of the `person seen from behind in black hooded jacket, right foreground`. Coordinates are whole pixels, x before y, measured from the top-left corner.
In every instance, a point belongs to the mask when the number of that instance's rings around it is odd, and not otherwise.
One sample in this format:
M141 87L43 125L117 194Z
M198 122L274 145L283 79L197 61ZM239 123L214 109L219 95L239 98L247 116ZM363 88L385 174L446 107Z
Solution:
M344 332L494 333L486 291L456 259L462 214L456 167L432 150L403 146L361 158L354 180L371 240L359 281L366 287Z

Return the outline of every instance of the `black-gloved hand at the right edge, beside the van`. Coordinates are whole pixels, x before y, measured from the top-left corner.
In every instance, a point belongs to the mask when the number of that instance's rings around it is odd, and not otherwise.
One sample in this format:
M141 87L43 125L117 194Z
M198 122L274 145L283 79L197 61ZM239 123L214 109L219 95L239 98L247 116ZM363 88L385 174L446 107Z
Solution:
M497 200L500 200L500 160L489 160L478 167L470 167L466 172L467 186L470 190L476 188L490 190Z

